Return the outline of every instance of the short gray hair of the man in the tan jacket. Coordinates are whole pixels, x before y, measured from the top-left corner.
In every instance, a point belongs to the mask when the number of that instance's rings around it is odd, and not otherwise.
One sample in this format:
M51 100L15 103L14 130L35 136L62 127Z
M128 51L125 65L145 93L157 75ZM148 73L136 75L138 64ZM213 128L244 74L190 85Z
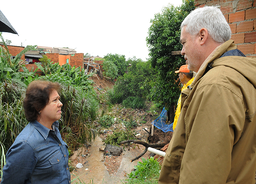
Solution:
M180 28L186 27L186 32L196 35L200 29L207 29L209 35L217 43L224 43L231 38L231 29L218 6L196 8L184 19Z

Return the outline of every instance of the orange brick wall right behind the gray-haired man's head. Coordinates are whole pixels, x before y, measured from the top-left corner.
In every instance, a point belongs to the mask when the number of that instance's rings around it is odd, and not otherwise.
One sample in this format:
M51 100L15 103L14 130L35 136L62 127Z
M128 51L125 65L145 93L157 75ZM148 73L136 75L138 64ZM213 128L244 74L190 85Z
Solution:
M247 57L256 57L256 0L195 0L195 6L220 5L231 39Z

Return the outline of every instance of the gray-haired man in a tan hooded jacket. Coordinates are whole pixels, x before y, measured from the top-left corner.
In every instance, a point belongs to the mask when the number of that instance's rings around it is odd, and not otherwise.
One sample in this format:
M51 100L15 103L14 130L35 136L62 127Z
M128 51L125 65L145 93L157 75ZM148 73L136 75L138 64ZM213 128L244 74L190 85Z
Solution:
M192 11L181 24L181 54L196 72L159 184L255 184L256 59L237 50L217 7Z

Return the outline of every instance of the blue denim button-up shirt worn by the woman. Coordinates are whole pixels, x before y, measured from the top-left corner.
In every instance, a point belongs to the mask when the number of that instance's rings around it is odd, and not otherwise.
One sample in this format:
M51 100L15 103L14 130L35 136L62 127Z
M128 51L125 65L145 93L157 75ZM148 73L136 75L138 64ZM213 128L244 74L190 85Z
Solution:
M31 121L6 153L1 184L70 184L67 144L53 130Z

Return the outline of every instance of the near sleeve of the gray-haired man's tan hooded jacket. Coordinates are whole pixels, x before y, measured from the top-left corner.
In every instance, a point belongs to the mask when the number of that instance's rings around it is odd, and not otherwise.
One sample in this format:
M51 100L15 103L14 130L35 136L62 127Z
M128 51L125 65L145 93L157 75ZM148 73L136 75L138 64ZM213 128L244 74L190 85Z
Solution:
M184 120L190 133L179 184L225 184L244 120L242 97L228 86L208 84L197 89Z

